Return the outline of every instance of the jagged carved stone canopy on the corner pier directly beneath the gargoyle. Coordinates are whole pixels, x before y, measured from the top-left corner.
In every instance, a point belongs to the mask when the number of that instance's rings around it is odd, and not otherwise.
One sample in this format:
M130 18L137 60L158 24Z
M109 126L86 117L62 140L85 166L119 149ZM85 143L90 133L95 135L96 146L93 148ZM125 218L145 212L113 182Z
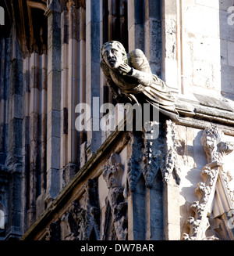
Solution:
M162 178L165 183L175 178L176 183L180 182L180 168L176 153L176 131L175 123L166 121L165 137L163 141L156 139L148 139L148 134L154 132L157 122L149 122L147 131L144 131L144 145L141 153L134 154L128 161L127 182L125 189L125 197L128 196L128 189L134 192L140 175L144 175L147 188L152 187L154 178L161 170ZM147 139L146 139L147 138ZM138 142L138 147L139 147Z

